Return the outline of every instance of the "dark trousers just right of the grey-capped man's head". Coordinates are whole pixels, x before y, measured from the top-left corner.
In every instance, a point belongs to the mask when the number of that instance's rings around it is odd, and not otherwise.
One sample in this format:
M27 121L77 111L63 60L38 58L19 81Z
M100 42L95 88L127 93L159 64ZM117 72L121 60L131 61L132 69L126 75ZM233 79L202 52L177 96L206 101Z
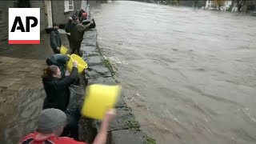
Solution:
M65 111L67 118L67 125L64 127L62 137L70 137L78 140L78 121L81 117L80 110L77 106L72 106Z

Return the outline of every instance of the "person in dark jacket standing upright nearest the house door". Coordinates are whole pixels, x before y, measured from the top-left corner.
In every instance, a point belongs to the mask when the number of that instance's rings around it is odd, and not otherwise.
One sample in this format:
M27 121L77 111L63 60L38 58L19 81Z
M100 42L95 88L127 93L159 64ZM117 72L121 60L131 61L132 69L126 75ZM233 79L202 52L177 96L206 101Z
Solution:
M58 23L54 23L54 30L50 32L50 47L54 50L54 54L60 54L62 39L58 34Z

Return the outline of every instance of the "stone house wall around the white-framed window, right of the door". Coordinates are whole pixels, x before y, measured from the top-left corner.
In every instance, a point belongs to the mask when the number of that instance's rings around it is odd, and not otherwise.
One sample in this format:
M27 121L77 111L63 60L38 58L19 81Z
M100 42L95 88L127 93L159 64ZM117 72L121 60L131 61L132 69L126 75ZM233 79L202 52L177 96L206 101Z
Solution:
M81 1L74 1L74 10L64 13L64 1L52 1L52 13L53 13L53 22L57 22L59 24L66 24L68 18L75 13L75 10L80 10Z

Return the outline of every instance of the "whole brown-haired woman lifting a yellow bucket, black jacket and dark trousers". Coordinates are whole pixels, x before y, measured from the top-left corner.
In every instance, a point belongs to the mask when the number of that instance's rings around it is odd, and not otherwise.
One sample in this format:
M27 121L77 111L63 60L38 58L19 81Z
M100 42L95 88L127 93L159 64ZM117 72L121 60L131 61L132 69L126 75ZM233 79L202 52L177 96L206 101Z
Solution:
M73 63L70 75L62 78L62 72L58 66L51 65L44 69L42 83L46 91L46 98L43 102L42 109L55 108L62 110L67 115L67 125L64 128L62 136L70 136L78 140L78 121L81 117L80 110L77 106L67 106L70 102L69 86L78 78L78 62Z

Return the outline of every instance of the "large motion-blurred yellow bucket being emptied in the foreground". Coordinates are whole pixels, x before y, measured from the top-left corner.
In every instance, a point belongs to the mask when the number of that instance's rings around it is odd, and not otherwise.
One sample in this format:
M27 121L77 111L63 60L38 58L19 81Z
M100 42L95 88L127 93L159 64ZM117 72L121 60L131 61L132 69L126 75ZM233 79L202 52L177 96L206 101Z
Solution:
M94 84L86 89L82 115L102 120L107 109L114 108L120 96L121 86Z

